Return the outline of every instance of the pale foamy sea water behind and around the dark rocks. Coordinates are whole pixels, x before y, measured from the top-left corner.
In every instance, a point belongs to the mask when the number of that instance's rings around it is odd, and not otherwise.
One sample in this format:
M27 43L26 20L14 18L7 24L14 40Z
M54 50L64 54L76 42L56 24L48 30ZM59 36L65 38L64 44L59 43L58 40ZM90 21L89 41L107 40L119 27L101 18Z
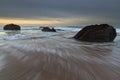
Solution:
M57 30L57 32L42 32L40 27L35 27L35 26L22 26L20 31L3 30L3 28L0 27L0 42L29 40L29 39L45 39L45 38L69 39L72 38L74 35L76 35L83 27L56 26L54 28ZM117 32L117 36L115 40L110 43L101 43L101 44L103 45L114 44L115 47L120 47L120 28L116 26L115 29ZM87 44L88 42L81 42L81 43ZM92 44L92 43L88 43L88 44Z

